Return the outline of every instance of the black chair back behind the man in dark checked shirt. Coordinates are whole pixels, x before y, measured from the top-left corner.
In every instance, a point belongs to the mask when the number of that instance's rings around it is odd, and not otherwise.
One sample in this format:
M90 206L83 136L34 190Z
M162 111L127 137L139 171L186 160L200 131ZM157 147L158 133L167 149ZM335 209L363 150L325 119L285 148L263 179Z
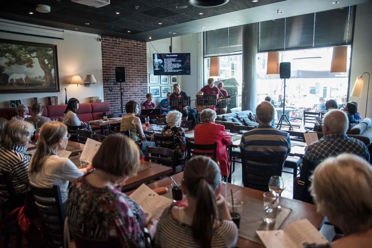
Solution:
M316 164L302 158L300 176L293 180L293 199L314 204L314 199L310 195L309 189L311 186L310 176L314 172L315 167Z

